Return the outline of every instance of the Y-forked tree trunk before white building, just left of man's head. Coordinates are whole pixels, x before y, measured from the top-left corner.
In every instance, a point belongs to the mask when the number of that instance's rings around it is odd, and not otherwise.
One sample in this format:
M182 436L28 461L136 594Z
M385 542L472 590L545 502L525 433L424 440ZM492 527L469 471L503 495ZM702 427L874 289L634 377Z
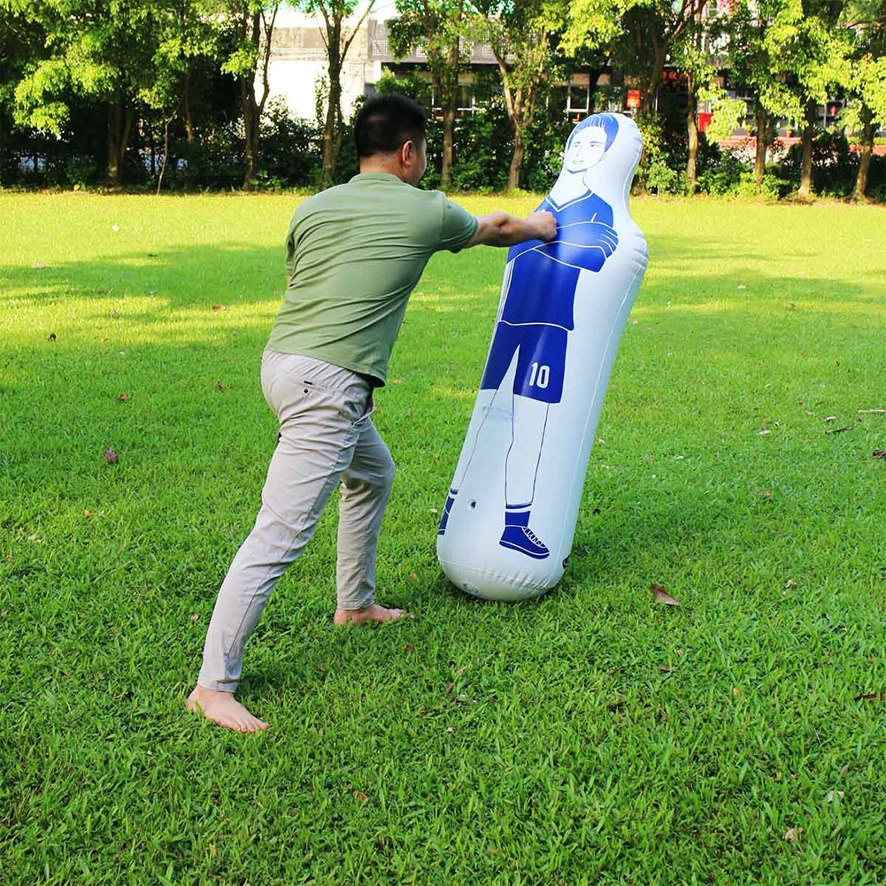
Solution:
M301 0L299 4L304 12L319 14L323 19L321 33L326 47L329 76L329 95L323 124L323 186L332 183L338 166L338 153L341 151L341 72L354 37L359 33L374 4L375 0L369 0L354 27L347 27L346 20L357 11L359 0Z

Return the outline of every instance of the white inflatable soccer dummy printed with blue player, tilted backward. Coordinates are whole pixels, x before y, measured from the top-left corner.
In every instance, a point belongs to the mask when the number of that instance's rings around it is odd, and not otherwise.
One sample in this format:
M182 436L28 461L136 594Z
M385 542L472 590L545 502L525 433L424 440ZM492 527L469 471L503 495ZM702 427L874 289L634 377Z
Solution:
M636 124L600 113L572 130L540 210L551 243L508 253L492 345L437 539L471 595L521 600L563 576L618 341L646 270L627 208Z

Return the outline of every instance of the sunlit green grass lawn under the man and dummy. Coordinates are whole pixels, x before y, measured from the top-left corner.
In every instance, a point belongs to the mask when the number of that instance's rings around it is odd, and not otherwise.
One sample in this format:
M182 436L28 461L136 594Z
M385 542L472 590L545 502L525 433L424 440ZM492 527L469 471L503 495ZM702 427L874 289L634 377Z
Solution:
M377 398L416 618L333 628L330 507L229 734L183 700L294 203L0 195L0 882L886 881L886 212L636 202L570 566L518 605L436 563L503 254L435 257Z

